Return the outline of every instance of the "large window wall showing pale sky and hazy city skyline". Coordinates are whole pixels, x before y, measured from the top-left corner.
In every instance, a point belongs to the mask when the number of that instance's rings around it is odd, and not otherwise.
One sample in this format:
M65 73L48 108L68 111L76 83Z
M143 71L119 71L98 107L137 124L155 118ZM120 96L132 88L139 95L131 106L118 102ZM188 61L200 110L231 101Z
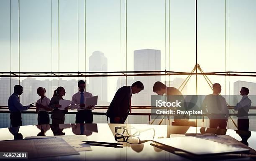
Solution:
M24 104L36 101L39 86L49 98L64 86L65 98L71 99L79 79L99 96L99 106L108 106L118 88L137 80L145 88L133 96L133 106L150 106L155 81L176 88L185 81L180 90L187 95L210 94L211 83L221 84L222 95L239 94L242 86L254 95L256 78L248 73L207 75L210 81L188 73L196 63L198 73L254 72L255 6L254 0L0 0L0 72L5 75L0 75L0 106L7 106L15 84L24 86ZM165 70L187 73L125 76L126 71ZM74 73L19 78L10 71ZM120 73L78 77L75 72Z

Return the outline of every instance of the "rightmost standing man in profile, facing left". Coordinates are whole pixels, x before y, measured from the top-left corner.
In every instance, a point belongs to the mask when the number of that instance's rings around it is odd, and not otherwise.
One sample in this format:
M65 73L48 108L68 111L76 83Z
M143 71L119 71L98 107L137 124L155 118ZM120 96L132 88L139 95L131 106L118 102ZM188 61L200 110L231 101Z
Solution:
M251 107L251 100L248 98L249 89L246 87L242 87L240 91L240 95L242 96L241 101L239 101L236 106L234 106L234 109L237 112L237 129L238 130L244 130L249 131L249 118L248 118L248 112Z

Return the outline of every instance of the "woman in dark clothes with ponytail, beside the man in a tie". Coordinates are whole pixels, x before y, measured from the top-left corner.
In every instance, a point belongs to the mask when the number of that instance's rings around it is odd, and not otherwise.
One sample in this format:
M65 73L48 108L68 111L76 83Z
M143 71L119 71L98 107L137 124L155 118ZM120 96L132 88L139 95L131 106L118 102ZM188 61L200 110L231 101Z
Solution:
M60 100L64 100L65 89L63 87L58 87L54 90L54 96L51 98L50 107L53 109L51 114L52 124L62 124L65 121L65 113L68 112L68 107L61 110L61 105L59 105Z

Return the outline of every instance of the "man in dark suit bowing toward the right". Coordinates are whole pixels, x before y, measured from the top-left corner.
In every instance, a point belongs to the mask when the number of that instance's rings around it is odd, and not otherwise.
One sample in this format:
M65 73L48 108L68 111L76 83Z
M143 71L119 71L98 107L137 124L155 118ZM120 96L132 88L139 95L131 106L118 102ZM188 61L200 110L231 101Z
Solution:
M110 123L125 122L128 113L131 112L132 94L139 93L143 89L143 83L141 83L141 81L136 81L132 86L123 86L116 91L106 113L110 118Z

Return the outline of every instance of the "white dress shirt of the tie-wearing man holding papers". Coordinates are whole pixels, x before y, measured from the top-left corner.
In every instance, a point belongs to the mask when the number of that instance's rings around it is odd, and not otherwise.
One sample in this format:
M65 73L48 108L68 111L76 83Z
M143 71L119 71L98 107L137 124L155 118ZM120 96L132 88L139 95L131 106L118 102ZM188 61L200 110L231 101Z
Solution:
M92 97L92 93L89 93L89 92L86 92L86 91L83 91L83 93L84 93L84 104L85 104L85 98ZM94 110L95 106L93 106L92 109L86 109L86 108L81 109L80 108L80 98L81 98L81 92L80 91L73 95L72 103L70 105L70 108L72 110L74 110L74 109L77 109L77 111L80 111L80 110Z

